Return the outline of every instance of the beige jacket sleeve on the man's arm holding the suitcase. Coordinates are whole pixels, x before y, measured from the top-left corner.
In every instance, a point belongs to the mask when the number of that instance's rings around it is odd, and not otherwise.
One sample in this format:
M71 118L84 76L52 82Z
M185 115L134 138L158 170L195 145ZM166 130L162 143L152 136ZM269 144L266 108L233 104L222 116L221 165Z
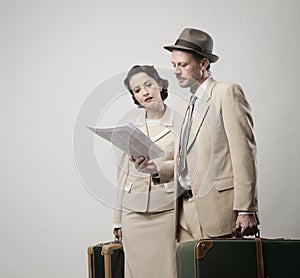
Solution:
M257 211L257 161L251 109L239 85L228 87L222 103L234 176L233 209Z

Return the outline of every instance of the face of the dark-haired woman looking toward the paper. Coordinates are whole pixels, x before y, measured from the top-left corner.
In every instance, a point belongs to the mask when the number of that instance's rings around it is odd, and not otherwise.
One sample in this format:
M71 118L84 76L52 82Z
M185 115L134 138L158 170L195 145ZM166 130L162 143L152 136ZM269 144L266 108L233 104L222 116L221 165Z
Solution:
M154 108L157 104L163 102L160 95L162 90L161 84L158 84L145 72L133 75L129 86L133 91L134 98L146 109Z

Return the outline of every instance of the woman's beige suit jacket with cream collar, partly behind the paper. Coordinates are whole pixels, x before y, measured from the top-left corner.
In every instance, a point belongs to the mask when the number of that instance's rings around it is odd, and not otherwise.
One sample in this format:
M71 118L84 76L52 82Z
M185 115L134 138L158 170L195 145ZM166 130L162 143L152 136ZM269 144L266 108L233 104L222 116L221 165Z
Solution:
M151 175L138 172L124 153L118 165L119 190L113 218L115 224L121 224L123 209L142 213L174 209L174 138L180 129L179 116L166 107L161 124L147 126L143 111L135 124L145 134L149 133L149 137L165 151L163 157L155 159L161 179L159 184L154 184Z

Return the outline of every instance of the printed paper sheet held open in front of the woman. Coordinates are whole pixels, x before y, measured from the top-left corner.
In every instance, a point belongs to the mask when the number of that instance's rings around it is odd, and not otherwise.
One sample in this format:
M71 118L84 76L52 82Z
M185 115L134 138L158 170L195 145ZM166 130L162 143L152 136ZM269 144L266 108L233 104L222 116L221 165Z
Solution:
M133 158L146 156L154 159L164 155L164 151L132 123L112 128L87 128Z

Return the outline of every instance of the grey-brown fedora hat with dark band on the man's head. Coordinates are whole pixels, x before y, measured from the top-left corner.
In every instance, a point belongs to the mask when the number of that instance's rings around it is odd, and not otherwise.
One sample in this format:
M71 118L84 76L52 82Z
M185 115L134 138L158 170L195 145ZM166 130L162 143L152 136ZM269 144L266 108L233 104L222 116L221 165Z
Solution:
M193 51L214 63L219 57L212 53L213 44L213 39L209 34L198 29L185 28L174 45L167 45L164 48L169 51Z

